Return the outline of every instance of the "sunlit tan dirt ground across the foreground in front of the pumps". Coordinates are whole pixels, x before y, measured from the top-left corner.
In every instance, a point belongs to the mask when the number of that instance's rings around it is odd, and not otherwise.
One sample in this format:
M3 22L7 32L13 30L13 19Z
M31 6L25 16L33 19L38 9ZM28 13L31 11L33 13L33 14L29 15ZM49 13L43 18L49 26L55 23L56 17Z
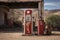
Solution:
M22 36L22 33L0 33L0 40L60 40L60 35Z

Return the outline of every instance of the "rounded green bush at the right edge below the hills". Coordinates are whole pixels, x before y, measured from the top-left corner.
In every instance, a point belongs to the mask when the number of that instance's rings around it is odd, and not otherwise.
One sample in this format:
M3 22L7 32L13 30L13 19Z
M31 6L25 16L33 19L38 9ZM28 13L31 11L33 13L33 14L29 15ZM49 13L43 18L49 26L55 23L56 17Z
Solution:
M60 16L59 15L51 15L45 19L45 23L52 27L60 27Z

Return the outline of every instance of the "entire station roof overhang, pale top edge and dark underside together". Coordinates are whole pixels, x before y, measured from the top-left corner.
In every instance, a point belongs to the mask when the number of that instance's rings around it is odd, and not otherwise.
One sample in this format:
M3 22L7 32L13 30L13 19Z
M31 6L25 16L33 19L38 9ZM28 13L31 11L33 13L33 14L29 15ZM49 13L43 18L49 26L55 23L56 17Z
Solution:
M38 2L43 0L0 0L0 5L9 8L38 8Z

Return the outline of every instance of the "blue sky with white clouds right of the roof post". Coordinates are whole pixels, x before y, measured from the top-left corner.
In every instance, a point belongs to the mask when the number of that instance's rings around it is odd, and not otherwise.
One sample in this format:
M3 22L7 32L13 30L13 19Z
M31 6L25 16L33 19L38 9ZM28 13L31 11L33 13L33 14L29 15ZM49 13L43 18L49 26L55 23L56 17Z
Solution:
M60 0L44 0L44 9L60 9Z

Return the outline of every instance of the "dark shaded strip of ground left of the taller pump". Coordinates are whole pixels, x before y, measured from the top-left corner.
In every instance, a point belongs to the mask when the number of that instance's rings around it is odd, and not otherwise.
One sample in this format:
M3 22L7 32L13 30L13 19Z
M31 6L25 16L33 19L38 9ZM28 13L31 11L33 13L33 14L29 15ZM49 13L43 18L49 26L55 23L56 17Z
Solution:
M1 27L0 28L0 33L19 33L19 32L23 32L23 28L20 27Z

